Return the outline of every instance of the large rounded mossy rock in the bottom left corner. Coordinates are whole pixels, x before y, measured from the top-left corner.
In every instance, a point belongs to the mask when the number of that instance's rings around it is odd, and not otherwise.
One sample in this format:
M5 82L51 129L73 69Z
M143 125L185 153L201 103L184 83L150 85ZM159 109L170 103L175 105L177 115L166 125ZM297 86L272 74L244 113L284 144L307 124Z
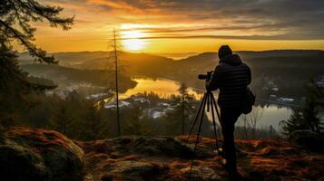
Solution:
M64 135L15 128L0 142L0 180L82 180L84 154Z

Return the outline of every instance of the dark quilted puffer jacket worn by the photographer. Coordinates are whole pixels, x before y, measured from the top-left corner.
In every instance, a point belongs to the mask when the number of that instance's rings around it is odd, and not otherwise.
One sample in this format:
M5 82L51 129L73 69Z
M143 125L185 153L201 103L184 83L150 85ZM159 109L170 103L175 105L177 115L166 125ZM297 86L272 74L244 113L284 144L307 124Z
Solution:
M206 89L220 89L218 103L221 107L239 107L250 81L250 67L241 62L239 55L231 54L222 58L216 66L211 80L206 81Z

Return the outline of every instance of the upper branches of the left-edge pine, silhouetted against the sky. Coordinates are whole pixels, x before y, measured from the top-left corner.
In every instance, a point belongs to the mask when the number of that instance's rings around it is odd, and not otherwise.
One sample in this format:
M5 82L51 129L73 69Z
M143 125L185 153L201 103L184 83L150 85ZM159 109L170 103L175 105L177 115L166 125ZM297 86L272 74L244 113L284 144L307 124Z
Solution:
M36 29L30 23L46 20L52 27L61 26L68 30L74 17L60 17L62 7L41 5L36 0L2 0L0 9L1 46L10 48L10 43L17 41L36 61L54 63L54 56L47 56L44 50L32 43Z

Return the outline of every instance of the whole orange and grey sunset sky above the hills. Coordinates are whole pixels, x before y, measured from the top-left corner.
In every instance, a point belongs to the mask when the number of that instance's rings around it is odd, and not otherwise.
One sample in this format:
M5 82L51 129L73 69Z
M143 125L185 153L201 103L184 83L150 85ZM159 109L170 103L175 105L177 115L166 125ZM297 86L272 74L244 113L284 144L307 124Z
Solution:
M34 24L48 52L105 51L119 33L128 52L324 49L323 0L43 0L75 15L69 31Z

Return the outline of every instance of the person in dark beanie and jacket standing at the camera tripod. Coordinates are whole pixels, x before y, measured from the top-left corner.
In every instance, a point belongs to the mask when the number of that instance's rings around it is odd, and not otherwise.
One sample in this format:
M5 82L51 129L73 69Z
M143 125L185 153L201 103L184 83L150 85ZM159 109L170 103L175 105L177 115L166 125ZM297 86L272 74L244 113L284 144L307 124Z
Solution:
M234 144L234 126L241 115L241 100L251 81L247 64L241 62L228 45L222 45L218 52L220 63L216 66L211 79L206 81L207 90L220 89L218 104L221 108L221 132L225 168L230 174L237 174Z

